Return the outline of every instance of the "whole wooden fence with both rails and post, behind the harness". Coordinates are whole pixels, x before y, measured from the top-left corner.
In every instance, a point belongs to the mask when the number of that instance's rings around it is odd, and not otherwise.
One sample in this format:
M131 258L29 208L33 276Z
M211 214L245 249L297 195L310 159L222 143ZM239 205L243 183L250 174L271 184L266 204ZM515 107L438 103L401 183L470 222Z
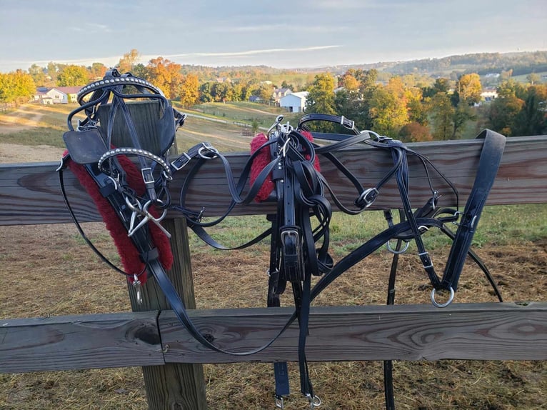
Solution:
M463 204L476 174L482 142L476 140L410 144L428 156L458 188ZM387 153L368 147L342 151L338 156L361 179L374 186L391 166ZM247 154L232 154L237 172ZM423 169L411 159L411 201L423 204L428 187ZM59 193L53 163L0 166L0 225L70 222ZM323 175L343 201L352 200L351 188L339 172L321 164ZM184 181L183 169L171 189ZM435 184L435 181L433 181ZM86 193L70 173L66 186L81 221L97 221ZM438 183L441 186L441 183ZM215 192L211 196L210 192ZM226 194L226 195L223 195ZM441 191L443 194L443 191ZM448 191L446 191L448 196ZM547 136L508 139L501 167L487 204L547 203ZM36 206L40 204L40 206ZM188 206L206 205L209 216L228 204L220 164L209 161L191 184ZM454 205L454 204L447 204ZM388 184L375 209L398 208L396 186ZM236 207L235 214L266 214L269 204ZM175 264L169 272L186 305L195 308L189 244L184 219L169 215L165 226L173 234ZM117 314L0 319L0 372L56 371L143 366L150 409L206 409L201 363L233 361L293 361L297 354L297 325L259 354L235 357L204 349L169 310L154 281L144 287L144 303ZM291 309L193 310L199 329L206 329L226 349L260 346L276 334ZM311 311L306 356L311 361L437 360L437 359L547 359L547 303L331 306ZM434 336L433 336L434 334ZM364 337L366 335L366 337ZM184 386L181 389L180 386ZM183 393L181 393L183 391Z

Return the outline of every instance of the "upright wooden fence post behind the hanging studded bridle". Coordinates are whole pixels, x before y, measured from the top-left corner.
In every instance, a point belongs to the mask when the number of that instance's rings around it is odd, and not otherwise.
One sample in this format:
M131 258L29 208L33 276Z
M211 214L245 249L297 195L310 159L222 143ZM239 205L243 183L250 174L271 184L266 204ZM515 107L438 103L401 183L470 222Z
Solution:
M128 104L131 118L134 121L137 134L143 144L142 148L156 151L160 136L157 134L156 123L159 118L157 101L139 101ZM106 128L109 121L109 106L99 109L101 124ZM114 119L116 146L132 146L129 135L126 134L126 124L122 116ZM171 147L171 153L176 154L176 144ZM169 279L176 291L181 295L188 309L196 309L194 299L194 280L190 264L190 249L188 231L184 219L171 219L163 222L171 233L174 264L168 272ZM149 279L143 286L143 302L138 304L133 286L129 285L129 299L133 311L151 311L171 309L163 292L154 279ZM166 349L166 346L164 346ZM206 410L205 379L201 364L165 364L163 366L144 366L142 368L149 410Z

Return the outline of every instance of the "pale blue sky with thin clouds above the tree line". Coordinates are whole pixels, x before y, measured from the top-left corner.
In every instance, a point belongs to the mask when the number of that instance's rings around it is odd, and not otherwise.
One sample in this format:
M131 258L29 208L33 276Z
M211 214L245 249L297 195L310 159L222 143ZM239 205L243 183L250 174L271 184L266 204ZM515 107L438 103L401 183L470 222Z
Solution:
M306 68L547 50L547 0L0 0L0 72L49 61Z

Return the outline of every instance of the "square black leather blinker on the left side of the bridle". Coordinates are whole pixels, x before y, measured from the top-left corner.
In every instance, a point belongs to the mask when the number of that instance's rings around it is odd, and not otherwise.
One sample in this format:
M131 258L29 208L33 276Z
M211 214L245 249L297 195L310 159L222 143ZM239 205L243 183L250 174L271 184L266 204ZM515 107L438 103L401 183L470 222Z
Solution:
M84 131L66 131L63 134L66 149L77 164L94 164L108 151L98 128Z

